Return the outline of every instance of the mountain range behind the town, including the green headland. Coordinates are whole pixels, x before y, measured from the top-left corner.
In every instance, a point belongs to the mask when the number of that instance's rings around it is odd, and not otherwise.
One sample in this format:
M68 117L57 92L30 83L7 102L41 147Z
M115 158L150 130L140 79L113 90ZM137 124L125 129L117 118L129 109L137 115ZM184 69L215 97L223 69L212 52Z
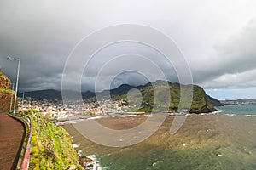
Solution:
M163 92L163 88L161 87L163 84L166 84L166 83L163 83L163 81L156 81L154 83L148 83L143 86L137 86L137 87L134 87L128 84L123 84L118 88L114 88L111 90L104 90L98 94L100 94L100 96L111 94L112 99L127 100L127 92L132 88L137 88L138 90L140 90L143 97L143 101L139 111L149 112L152 110L154 105L154 93L160 93L160 95L162 96L162 98L159 99L159 101L156 101L157 102L156 104L159 105L159 107L165 106L165 101L166 101L165 98L168 97L168 94ZM171 102L170 102L169 111L177 111L179 107L179 100L180 100L180 87L183 86L184 89L187 89L187 88L189 89L189 86L180 85L179 83L172 83L172 82L168 82L168 84L171 92ZM153 88L153 85L155 89ZM191 108L189 105L189 101L187 101L187 103L186 101L183 102L183 108L190 108L190 112L193 112L193 113L201 113L201 112L216 111L216 109L214 109L214 106L222 105L217 99L213 99L212 97L208 96L205 93L203 88L197 85L193 85L193 88L194 88L194 92L193 92L193 100L192 100ZM156 92L154 92L154 90L156 90ZM77 93L77 92L70 91L71 95L73 93ZM22 96L22 94L19 94L19 95L20 97ZM83 92L82 96L83 96L83 99L94 99L94 100L96 99L96 94L90 91ZM61 99L61 91L52 90L52 89L32 91L32 92L26 92L25 97L32 97L36 99ZM133 97L133 100L137 100L139 96L135 95L132 97Z

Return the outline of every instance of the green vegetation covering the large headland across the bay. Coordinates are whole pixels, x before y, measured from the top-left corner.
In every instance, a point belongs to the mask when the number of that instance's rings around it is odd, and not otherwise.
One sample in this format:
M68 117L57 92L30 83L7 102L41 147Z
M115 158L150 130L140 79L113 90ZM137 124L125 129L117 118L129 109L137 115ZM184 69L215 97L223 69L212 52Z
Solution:
M166 87L169 86L169 87ZM186 96L182 102L180 102L180 94L181 94L181 86L183 89L183 94ZM191 87L193 86L193 99L192 103L189 101L191 97ZM169 88L169 91L167 90ZM138 111L151 112L153 110L153 106L156 105L157 109L165 109L168 108L166 105L166 101L170 101L169 111L176 112L178 108L189 109L190 112L210 112L215 111L213 105L210 102L207 102L206 93L203 88L196 85L181 85L179 83L172 82L163 82L157 81L154 83L148 83L144 86L140 86L137 88L140 90L143 99L142 105ZM169 98L169 93L171 94L171 99ZM160 96L160 98L154 98L154 95ZM133 101L139 100L140 96L137 94L131 95L131 99ZM128 101L126 93L114 94L113 99L124 99ZM180 107L179 107L180 106ZM202 110L204 109L204 110Z

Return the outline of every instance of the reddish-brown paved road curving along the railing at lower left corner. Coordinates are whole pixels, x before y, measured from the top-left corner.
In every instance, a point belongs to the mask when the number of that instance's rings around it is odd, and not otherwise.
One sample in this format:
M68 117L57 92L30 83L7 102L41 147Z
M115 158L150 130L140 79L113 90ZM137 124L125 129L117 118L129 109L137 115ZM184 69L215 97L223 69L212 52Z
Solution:
M20 156L24 127L21 122L0 113L0 169L15 169Z

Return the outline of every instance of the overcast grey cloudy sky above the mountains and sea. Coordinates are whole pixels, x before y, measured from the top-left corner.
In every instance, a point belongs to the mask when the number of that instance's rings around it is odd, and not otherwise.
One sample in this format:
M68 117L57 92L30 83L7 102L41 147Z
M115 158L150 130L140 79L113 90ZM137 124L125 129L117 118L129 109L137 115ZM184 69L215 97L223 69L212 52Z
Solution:
M0 65L3 73L15 82L17 62L6 56L20 59L20 91L61 89L67 61L84 37L109 26L148 26L175 42L189 65L193 83L203 87L207 94L216 99L256 99L255 8L253 0L2 0ZM105 36L115 37L115 34L119 33ZM100 40L92 40L90 44ZM137 59L148 57L164 71L167 80L178 81L176 65L166 64L162 54L136 42L103 48L93 56L82 76L76 70L78 60L71 65L70 74L81 77L83 90L92 90L96 73L122 54L136 55ZM112 68L128 63L120 62ZM146 65L143 63L137 61L137 65ZM107 80L114 74L117 73L105 69L100 77ZM115 76L113 88L122 83L140 85L152 77L160 78L132 71ZM72 78L69 83L72 84ZM104 84L100 83L98 89L109 88Z

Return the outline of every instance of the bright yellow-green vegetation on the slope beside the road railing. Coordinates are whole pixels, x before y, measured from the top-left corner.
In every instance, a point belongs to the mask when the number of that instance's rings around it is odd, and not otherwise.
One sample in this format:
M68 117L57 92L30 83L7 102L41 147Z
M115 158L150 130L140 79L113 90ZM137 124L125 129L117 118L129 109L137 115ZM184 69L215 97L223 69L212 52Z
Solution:
M83 169L72 138L62 127L48 122L38 111L30 110L26 114L33 124L30 158L33 169L68 169L71 165Z

